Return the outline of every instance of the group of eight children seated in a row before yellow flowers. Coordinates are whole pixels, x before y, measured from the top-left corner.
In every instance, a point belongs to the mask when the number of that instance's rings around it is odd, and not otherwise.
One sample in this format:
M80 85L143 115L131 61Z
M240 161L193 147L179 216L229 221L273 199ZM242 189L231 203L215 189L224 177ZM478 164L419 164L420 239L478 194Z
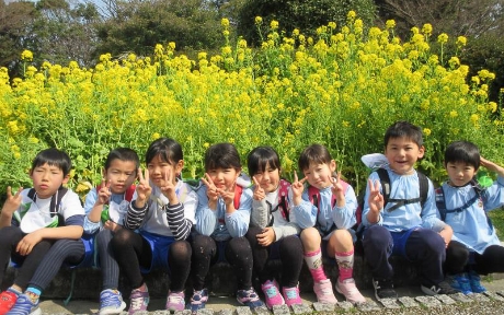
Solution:
M282 178L280 160L270 147L248 155L249 176L231 143L205 153L205 176L197 187L182 180L181 145L173 139L153 141L140 167L134 150L112 150L101 185L82 207L64 188L71 162L57 149L39 152L30 176L33 188L12 191L0 214L0 281L11 261L19 268L12 285L0 293L0 314L41 314L42 292L64 265L99 266L102 270L100 314L126 308L118 291L119 270L129 281L128 314L146 311L149 291L144 275L170 271L165 308L192 312L208 301L205 279L217 261L236 269L237 300L252 310L264 303L253 288L261 282L264 302L301 304L298 279L303 261L320 303L336 303L322 257L335 259L334 289L352 303L363 303L353 279L357 211L359 235L378 300L397 298L391 255L420 266L425 294L482 292L479 275L503 272L504 247L486 212L504 205L504 168L481 158L467 141L450 143L445 153L448 180L435 189L414 165L424 155L422 131L408 121L385 135L385 165L368 178L364 206L336 172L320 144L306 148L290 184ZM482 188L480 166L497 179ZM279 259L272 272L268 260ZM191 277L192 295L185 298ZM186 303L187 300L187 303Z

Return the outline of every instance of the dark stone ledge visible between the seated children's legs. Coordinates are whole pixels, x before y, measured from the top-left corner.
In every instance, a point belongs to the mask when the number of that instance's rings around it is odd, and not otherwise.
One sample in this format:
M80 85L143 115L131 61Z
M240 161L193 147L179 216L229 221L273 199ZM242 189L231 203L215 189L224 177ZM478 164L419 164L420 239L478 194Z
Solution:
M280 264L277 261L271 261L268 268L280 268ZM405 287L405 285L415 285L417 284L416 268L405 259L400 257L392 257L391 264L394 267L394 284L396 287ZM324 269L328 277L333 281L337 279L337 267L335 261L332 259L324 259ZM12 267L9 267L4 280L2 283L2 289L7 288L12 283L16 270ZM82 269L68 269L62 268L56 278L53 280L51 284L44 291L44 299L66 299L68 298L71 291L71 279L72 272L75 272L75 283L72 299L96 299L100 295L102 287L102 277L101 271L95 268L82 268ZM370 289L371 285L371 273L365 259L356 255L354 262L354 278L357 284L357 288L360 290ZM169 273L164 270L153 270L149 275L145 276L147 285L149 287L150 296L163 298L168 292L169 284ZM210 291L210 295L214 296L230 296L236 293L236 277L234 272L228 264L216 264L210 268L210 272L207 277L207 288ZM256 289L261 288L259 281L254 281L254 287ZM312 292L313 280L311 275L303 264L301 275L299 277L299 290L300 292ZM187 290L191 291L192 283L191 279L187 281ZM119 290L125 293L129 292L131 288L127 283L127 280L124 277L119 278ZM126 293L125 298L128 296Z

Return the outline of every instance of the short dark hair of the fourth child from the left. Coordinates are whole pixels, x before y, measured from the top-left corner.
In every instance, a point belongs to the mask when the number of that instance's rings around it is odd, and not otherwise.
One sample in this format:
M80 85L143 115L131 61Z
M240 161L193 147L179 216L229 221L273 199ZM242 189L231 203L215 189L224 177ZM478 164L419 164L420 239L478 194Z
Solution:
M241 170L240 154L232 143L216 143L205 152L205 171L215 168Z

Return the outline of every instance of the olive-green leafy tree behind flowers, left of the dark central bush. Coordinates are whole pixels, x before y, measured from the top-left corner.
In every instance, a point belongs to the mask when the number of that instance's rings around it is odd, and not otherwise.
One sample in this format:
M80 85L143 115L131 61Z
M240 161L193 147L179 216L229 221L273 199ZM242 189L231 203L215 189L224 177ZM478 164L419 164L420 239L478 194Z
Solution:
M175 42L181 49L220 45L217 10L202 0L116 2L114 15L99 25L99 52L150 55L156 44Z

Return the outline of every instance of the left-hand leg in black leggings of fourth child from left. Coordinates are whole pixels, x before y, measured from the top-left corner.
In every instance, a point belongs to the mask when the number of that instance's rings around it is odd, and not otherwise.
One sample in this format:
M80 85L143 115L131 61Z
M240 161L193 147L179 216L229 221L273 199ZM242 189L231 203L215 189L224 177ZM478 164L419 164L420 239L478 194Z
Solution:
M192 244L191 275L193 289L201 291L205 288L205 278L210 270L210 262L216 257L217 245L210 236L195 235Z

